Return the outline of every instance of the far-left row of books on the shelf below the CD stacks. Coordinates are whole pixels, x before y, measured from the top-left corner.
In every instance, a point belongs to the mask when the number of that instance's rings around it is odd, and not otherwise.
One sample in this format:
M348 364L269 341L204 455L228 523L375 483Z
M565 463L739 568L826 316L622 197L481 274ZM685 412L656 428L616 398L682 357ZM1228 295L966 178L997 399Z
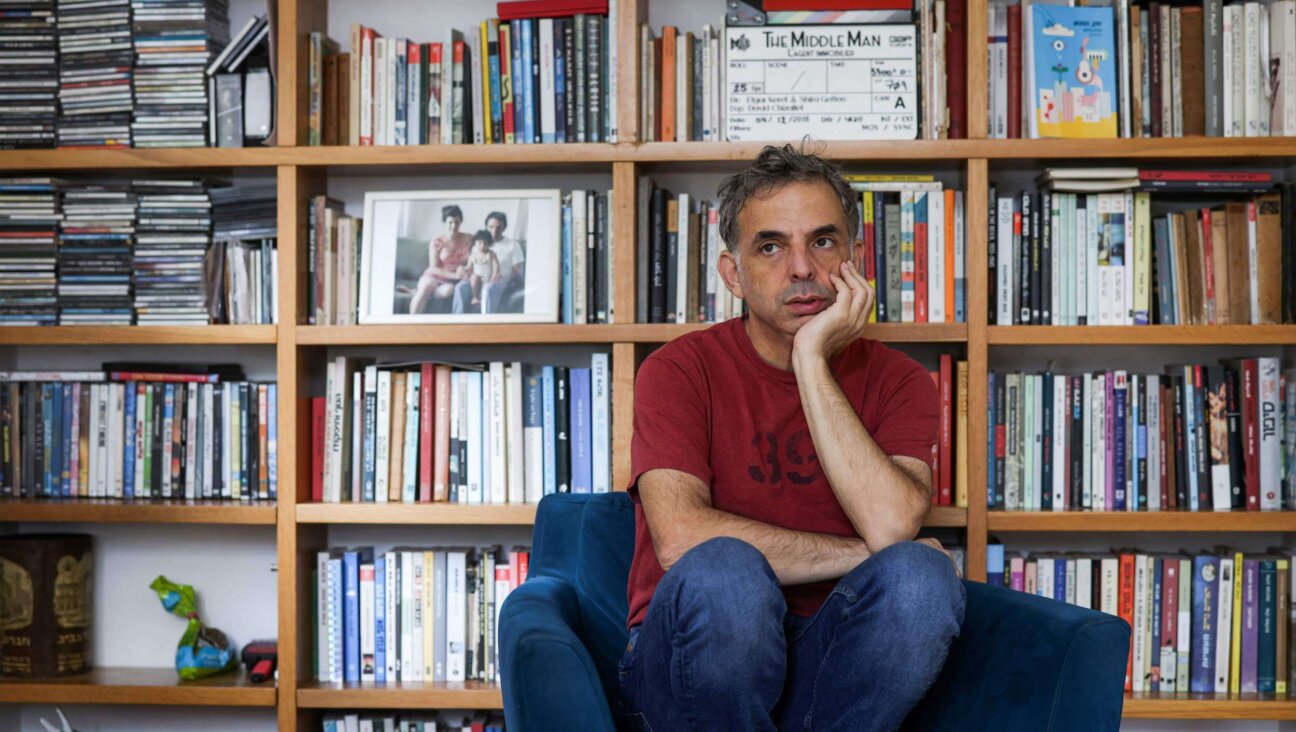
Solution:
M237 367L0 373L0 495L273 500L275 383Z

